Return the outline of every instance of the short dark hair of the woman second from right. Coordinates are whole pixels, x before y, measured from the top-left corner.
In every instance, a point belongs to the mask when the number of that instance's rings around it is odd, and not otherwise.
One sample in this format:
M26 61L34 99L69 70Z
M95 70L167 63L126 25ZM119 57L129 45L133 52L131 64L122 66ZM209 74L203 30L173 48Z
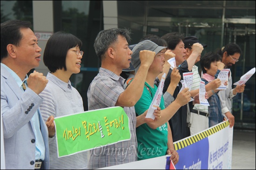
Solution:
M220 61L221 56L217 53L214 52L208 52L206 53L201 59L200 59L200 64L202 68L202 73L206 73L206 69L210 69L211 63ZM205 69L206 68L206 69Z

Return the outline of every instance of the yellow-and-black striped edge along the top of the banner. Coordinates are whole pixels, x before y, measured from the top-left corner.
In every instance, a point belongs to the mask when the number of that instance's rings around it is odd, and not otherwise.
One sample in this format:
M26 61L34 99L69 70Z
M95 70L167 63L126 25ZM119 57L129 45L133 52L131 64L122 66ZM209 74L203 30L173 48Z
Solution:
M198 142L199 140L207 138L208 136L210 136L210 135L212 135L212 134L214 134L214 133L224 129L227 126L229 126L229 121L224 121L224 122L220 123L217 126L213 126L213 127L209 128L208 130L202 131L201 133L198 133L196 135L190 136L187 139L183 139L183 140L181 140L179 142L176 142L174 144L174 148L177 151L177 150L182 149L182 148L184 148L186 146L192 145L195 142Z

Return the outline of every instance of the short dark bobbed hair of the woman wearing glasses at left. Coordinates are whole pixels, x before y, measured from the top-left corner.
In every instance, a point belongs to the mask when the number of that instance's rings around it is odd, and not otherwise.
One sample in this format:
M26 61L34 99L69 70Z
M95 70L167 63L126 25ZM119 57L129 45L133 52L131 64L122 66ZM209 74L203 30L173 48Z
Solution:
M47 41L43 57L44 64L53 73L57 69L62 68L67 71L67 51L76 46L78 46L79 49L82 46L82 42L79 38L70 33L62 31L55 32Z

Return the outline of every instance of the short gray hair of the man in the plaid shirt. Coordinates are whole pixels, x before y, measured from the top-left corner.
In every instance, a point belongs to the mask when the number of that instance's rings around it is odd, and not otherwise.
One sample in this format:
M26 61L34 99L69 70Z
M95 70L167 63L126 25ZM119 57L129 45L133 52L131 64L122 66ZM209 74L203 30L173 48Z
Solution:
M94 41L94 50L96 55L100 58L100 60L103 59L109 46L117 42L118 35L123 36L126 38L127 42L129 42L131 39L130 34L130 30L121 28L111 28L100 31Z

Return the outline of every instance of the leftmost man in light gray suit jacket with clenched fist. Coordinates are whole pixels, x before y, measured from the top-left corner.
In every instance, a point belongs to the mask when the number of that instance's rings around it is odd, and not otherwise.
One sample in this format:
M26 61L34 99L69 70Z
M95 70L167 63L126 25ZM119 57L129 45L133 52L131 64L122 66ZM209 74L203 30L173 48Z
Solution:
M38 95L48 80L29 70L39 66L37 38L27 21L1 23L1 107L6 169L49 169L48 137L54 136L54 118L46 124ZM48 129L47 129L48 127ZM48 133L49 131L49 133Z

